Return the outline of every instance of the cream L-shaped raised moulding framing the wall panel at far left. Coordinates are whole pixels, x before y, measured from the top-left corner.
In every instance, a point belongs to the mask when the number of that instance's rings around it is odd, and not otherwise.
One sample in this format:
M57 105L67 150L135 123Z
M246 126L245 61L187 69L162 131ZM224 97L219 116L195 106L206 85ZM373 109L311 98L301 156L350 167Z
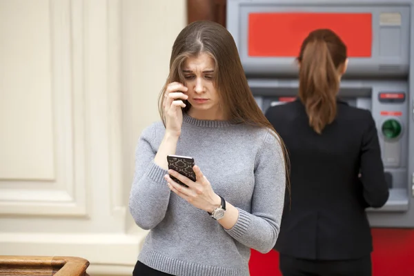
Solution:
M55 179L0 180L0 214L86 217L83 1L49 1Z

